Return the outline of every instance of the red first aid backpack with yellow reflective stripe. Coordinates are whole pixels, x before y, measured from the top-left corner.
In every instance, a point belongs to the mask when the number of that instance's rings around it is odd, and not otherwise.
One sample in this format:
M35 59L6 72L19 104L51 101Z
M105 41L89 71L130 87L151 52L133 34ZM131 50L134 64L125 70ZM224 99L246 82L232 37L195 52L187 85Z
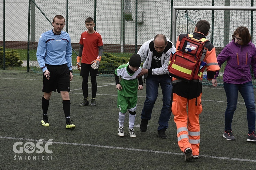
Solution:
M206 41L208 41L206 38L195 39L191 34L183 37L176 52L170 56L169 75L185 82L198 80L206 67L200 68L201 61L207 52L207 49L204 48Z

